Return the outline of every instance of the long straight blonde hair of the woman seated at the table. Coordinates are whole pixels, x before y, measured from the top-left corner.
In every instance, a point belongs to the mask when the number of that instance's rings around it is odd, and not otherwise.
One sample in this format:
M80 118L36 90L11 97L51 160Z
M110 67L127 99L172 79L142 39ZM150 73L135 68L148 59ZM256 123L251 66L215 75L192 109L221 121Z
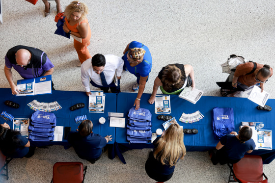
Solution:
M160 160L162 164L169 163L170 166L175 166L178 159L183 159L185 154L183 129L177 123L171 124L157 142L157 148L153 155L156 159Z

